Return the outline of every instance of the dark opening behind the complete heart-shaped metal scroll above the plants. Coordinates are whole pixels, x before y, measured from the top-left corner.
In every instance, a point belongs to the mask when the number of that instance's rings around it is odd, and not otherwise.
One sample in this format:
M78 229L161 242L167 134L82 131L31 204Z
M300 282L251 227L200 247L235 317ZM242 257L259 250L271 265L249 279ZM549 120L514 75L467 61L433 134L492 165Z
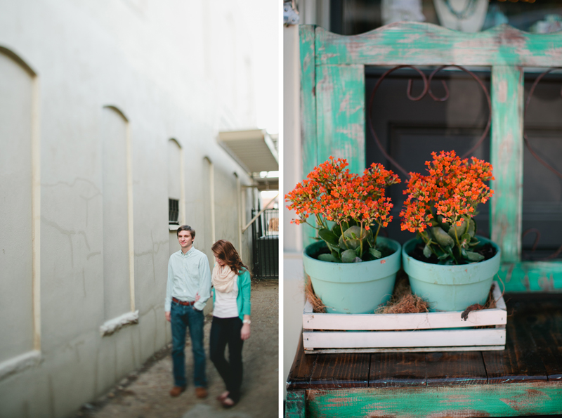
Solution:
M365 69L365 112L368 113L369 100L375 84L388 68L366 67ZM429 77L433 68L423 68ZM475 74L490 91L490 72L476 71ZM429 94L419 101L407 98L408 80L412 79L412 96L419 96L424 82L414 70L401 69L389 74L379 85L373 99L371 117L373 127L385 152L409 173L414 171L426 175L425 162L431 160L431 152L455 150L462 156L479 141L488 122L490 110L485 93L478 83L465 72L443 70L431 81L431 90L436 97L445 96L442 81L447 84L449 98L445 101L433 100ZM370 132L366 121L365 162L383 164L394 171L402 183L388 188L391 197L393 221L384 228L383 235L404 243L414 234L400 230L400 210L406 196L403 195L408 177L384 157ZM479 159L490 161L490 133L472 153ZM478 235L490 236L490 203L478 206L476 226Z

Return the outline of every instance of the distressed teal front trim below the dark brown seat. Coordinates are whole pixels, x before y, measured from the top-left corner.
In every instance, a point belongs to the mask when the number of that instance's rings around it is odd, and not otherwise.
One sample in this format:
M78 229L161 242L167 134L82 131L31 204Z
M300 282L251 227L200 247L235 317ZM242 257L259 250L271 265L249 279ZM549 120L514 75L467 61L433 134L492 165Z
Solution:
M287 392L288 394L288 392ZM562 414L562 384L306 391L306 417L513 417Z

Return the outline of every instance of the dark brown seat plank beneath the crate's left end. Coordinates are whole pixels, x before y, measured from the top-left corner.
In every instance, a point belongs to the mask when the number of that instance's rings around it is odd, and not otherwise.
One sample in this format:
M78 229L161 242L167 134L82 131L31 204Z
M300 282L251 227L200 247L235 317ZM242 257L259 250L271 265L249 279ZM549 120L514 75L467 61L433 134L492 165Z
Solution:
M370 354L319 354L311 388L360 388L369 383Z

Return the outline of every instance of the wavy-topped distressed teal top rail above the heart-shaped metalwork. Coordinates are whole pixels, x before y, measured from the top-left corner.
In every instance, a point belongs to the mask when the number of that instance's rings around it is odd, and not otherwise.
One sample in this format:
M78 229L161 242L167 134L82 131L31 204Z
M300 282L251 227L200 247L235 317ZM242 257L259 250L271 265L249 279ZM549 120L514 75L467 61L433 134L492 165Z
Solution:
M397 22L353 37L316 29L316 65L562 65L562 32L528 34L509 25L476 33Z

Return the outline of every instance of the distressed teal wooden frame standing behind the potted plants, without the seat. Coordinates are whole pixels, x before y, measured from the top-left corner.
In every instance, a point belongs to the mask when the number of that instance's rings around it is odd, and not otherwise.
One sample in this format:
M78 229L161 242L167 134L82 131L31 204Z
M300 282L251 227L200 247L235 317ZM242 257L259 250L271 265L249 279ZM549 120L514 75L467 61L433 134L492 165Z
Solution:
M348 159L351 171L365 169L365 65L490 67L490 237L502 248L499 275L507 292L562 289L561 261L521 261L523 67L562 67L561 32L528 34L502 25L469 34L401 22L346 37L303 25L300 47L305 173L330 155Z

